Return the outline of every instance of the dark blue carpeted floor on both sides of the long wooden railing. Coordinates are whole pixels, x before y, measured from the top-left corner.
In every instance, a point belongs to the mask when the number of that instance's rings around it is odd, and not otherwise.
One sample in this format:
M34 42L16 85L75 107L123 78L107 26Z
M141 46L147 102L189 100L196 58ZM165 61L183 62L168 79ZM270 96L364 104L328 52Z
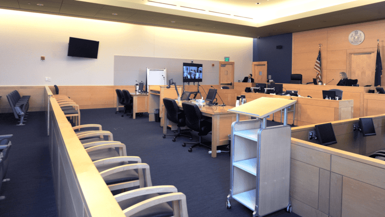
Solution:
M133 120L114 111L81 110L81 124L101 124L103 130L113 133L115 141L126 144L128 155L139 156L150 165L153 185L174 185L183 192L189 216L252 216L250 209L235 200L231 209L226 208L229 153L212 158L204 147L189 153L188 147L181 146L188 138L179 137L176 142L171 141L171 136L163 139L159 123L148 122L146 114ZM30 113L25 126L16 126L12 114L0 114L0 119L0 135L14 134L10 152L13 161L8 170L11 181L4 183L0 191L0 195L7 196L0 200L0 216L57 216L44 112ZM197 140L197 134L193 135ZM210 140L210 135L205 139ZM298 215L282 209L267 216Z

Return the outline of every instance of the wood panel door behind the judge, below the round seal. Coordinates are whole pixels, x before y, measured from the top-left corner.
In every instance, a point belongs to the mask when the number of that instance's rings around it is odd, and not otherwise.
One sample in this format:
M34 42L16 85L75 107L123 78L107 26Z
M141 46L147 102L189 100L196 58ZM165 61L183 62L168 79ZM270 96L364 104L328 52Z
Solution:
M374 85L375 52L350 53L349 79L358 79L359 86Z

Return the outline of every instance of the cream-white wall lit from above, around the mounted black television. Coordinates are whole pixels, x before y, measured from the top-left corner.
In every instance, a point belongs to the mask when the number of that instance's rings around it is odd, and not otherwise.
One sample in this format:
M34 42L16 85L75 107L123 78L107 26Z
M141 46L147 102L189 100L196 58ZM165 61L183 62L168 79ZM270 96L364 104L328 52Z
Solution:
M2 9L0 21L0 85L113 85L114 55L230 56L235 80L252 70L251 38ZM69 37L99 41L98 59L68 57Z

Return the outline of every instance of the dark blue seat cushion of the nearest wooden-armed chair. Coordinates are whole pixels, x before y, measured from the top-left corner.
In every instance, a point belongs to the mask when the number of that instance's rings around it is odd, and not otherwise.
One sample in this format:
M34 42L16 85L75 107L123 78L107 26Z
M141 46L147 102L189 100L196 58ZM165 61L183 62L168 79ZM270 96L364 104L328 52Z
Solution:
M132 205L135 205L136 203L139 203L141 201L144 201L146 199L150 199L153 197L159 196L159 194L148 194L148 195L142 195L137 196L134 198L122 200L119 203L120 207L124 210ZM154 206L151 206L145 210L139 211L130 217L171 217L173 216L172 208L168 203L160 203Z

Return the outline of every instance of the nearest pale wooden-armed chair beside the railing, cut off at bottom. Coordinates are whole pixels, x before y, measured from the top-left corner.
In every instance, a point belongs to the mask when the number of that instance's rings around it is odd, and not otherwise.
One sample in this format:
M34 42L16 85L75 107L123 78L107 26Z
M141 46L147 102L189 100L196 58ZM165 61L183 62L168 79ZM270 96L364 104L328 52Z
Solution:
M139 188L114 197L126 216L188 217L186 196L172 185Z

